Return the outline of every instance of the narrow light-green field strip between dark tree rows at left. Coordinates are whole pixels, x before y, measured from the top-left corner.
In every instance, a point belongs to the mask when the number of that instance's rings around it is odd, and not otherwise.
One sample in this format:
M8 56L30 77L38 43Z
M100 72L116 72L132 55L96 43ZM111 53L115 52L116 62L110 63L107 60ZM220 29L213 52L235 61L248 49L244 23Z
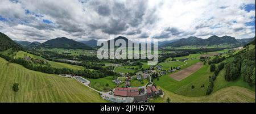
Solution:
M29 56L31 58L39 58L41 60L45 60L47 61L52 67L56 67L56 68L67 68L67 69L73 69L73 70L81 70L81 69L85 69L82 66L78 66L78 65L71 65L71 64L65 64L65 63L61 63L61 62L55 62L55 61L49 61L44 59L43 57L40 56L36 56L34 54L30 54L27 52L23 52L23 51L19 51L16 53L16 55L14 56L14 58L23 58L24 56Z

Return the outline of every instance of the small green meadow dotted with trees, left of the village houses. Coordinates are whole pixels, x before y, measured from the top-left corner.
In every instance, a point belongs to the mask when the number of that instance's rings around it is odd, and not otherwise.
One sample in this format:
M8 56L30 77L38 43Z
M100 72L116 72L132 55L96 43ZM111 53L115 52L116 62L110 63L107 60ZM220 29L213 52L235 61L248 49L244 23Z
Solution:
M95 88L98 91L109 91L112 90L115 87L115 83L112 82L112 76L104 77L104 78L98 78L98 79L91 79L86 78L90 81L90 87ZM109 86L106 86L107 83Z

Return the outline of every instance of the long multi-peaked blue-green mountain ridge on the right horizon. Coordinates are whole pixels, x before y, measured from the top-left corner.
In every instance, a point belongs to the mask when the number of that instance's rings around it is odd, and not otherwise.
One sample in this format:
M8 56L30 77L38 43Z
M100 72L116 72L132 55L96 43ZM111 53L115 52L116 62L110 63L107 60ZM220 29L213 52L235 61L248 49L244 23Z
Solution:
M184 45L219 45L219 44L239 44L239 42L231 36L222 36L218 37L216 35L210 36L208 39L201 39L195 36L188 37L187 39L183 38L177 40L173 43L168 43L163 45L163 47L181 47Z

